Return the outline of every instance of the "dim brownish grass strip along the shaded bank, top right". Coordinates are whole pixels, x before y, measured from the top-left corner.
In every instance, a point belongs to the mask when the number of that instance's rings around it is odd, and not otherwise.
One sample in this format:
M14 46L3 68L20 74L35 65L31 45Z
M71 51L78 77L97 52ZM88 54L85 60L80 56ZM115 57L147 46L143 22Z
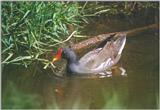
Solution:
M158 2L86 2L83 12L85 13L85 16L132 16L137 14L138 11L158 9L158 7Z

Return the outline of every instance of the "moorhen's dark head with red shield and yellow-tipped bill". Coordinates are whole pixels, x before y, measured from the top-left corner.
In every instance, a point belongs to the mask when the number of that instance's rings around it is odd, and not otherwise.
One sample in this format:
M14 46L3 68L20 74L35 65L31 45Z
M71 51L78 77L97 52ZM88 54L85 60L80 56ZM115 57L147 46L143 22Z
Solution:
M67 59L68 62L77 61L77 56L71 48L59 48L52 62L58 61L61 58Z

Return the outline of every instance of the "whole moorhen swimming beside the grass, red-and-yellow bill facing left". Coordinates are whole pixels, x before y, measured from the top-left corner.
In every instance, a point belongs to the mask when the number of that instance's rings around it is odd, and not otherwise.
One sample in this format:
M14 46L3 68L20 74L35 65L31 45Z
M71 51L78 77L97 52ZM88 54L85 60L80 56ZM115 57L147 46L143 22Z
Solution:
M106 39L105 44L78 59L71 48L59 48L53 62L61 57L67 60L67 71L79 74L105 72L115 65L126 43L126 34L116 34Z

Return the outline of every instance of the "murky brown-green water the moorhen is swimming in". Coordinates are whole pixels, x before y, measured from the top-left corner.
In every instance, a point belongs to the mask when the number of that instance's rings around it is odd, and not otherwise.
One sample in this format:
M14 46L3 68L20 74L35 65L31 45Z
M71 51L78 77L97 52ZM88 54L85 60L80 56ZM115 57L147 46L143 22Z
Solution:
M103 20L102 20L103 21ZM101 21L101 22L102 22ZM94 26L93 26L94 25ZM89 24L88 35L128 30L125 21L113 20L110 25ZM112 27L112 28L111 28ZM133 26L134 27L134 26ZM96 28L96 31L95 31ZM117 64L126 69L127 77L54 77L34 67L4 68L2 73L3 108L142 108L159 107L159 37L148 31L127 37L122 57ZM116 72L115 72L116 73Z

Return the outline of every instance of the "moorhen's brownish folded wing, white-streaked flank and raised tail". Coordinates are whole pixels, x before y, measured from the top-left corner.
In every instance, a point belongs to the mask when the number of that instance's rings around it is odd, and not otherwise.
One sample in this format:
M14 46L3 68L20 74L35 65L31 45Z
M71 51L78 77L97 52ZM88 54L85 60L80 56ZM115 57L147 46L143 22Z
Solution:
M117 34L105 46L85 54L79 63L91 70L107 69L118 62L126 42L126 34Z

